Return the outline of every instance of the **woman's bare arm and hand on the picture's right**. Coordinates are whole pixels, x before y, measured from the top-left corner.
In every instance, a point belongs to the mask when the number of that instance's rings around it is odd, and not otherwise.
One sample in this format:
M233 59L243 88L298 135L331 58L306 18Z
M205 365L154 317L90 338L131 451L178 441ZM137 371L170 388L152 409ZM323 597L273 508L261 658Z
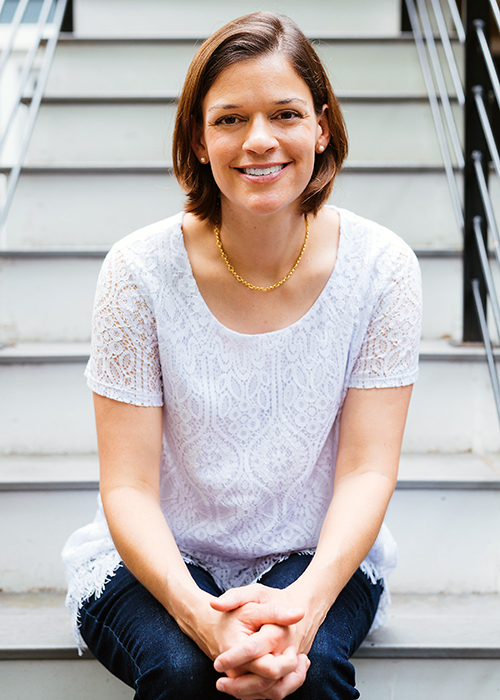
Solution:
M307 653L316 632L340 591L373 546L394 491L411 386L389 389L349 389L342 409L335 467L334 495L321 530L316 553L305 572L284 590L249 586L228 591L212 601L231 610L248 600L305 609L302 621L283 628L281 644ZM252 639L266 645L266 627ZM216 660L226 673L246 662L243 643ZM240 697L244 679L223 678L218 687Z

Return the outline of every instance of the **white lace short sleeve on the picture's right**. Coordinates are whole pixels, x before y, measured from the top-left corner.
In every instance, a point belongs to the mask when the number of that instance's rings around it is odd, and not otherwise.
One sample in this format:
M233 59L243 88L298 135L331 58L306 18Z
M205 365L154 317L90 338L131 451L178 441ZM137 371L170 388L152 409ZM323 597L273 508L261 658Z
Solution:
M422 285L415 254L403 244L383 268L385 284L349 380L358 389L413 384L418 377ZM380 272L380 270L379 270Z

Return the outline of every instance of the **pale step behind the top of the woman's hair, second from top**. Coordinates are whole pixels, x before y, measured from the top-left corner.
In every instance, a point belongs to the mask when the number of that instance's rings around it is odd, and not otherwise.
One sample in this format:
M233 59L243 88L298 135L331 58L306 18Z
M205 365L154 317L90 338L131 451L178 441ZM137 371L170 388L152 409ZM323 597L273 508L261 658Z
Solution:
M323 23L320 25L323 27ZM413 37L309 37L335 90L425 94ZM47 83L47 95L74 93L177 93L200 37L183 33L150 38L86 38L62 35ZM463 49L454 42L459 66ZM151 70L159 66L161 70ZM453 92L451 81L448 88Z

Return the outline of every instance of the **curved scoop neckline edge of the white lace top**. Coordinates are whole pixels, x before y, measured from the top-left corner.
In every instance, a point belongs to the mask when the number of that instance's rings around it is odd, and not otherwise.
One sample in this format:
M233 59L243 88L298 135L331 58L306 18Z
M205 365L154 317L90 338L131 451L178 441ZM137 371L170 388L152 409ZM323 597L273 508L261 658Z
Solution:
M275 336L277 334L282 334L284 332L290 332L292 329L296 328L300 324L302 324L308 316L312 315L316 309L317 306L322 301L322 297L327 293L327 290L329 287L333 284L334 278L336 278L338 275L335 274L335 271L338 269L339 266L339 261L341 261L341 258L343 257L343 250L344 250L344 238L346 237L345 235L345 221L344 221L344 213L341 209L334 205L326 205L328 209L333 209L334 211L337 212L339 215L339 243L337 247L337 257L335 258L335 264L333 266L333 269L326 280L323 289L321 292L318 294L314 302L311 304L311 306L307 309L307 311L296 321L293 323L290 323L288 326L284 326L283 328L277 328L274 331L265 331L264 333L241 333L240 331L235 331L232 328L229 328L226 326L222 321L220 321L217 316L212 312L210 307L208 306L207 302L205 301L202 293L200 292L200 289L198 287L198 284L196 282L196 279L193 274L193 268L191 267L191 261L189 259L189 255L186 250L186 246L184 243L184 232L182 229L182 223L184 221L184 215L186 212L181 212L180 213L180 222L179 222L179 234L181 237L181 249L182 249L182 255L184 257L184 262L187 264L188 270L189 270L189 279L191 282L191 285L194 287L194 293L198 297L198 299L201 301L203 309L205 311L205 314L212 319L212 321L219 327L221 328L225 333L241 337L241 338L266 338L270 336ZM341 263L340 263L341 264Z

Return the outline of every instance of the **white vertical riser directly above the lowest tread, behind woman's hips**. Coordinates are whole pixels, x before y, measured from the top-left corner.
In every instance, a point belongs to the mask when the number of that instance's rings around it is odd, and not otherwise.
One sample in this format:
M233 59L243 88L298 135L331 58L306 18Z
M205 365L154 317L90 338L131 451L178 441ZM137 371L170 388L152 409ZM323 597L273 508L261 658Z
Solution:
M94 491L0 492L0 588L64 589L60 553L94 518ZM398 490L387 523L399 545L394 593L497 593L500 491Z

